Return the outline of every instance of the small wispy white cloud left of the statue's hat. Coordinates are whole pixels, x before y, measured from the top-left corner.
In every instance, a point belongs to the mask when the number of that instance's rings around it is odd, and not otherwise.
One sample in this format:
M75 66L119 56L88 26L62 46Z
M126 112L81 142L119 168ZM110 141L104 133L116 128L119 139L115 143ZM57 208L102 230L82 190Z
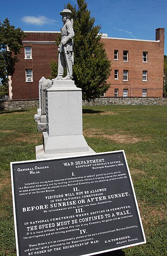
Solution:
M37 25L37 26L42 26L44 24L54 24L56 21L55 20L51 20L45 16L41 16L39 15L38 17L34 17L34 16L24 16L22 18L22 21L27 23L27 24L33 24L33 25Z

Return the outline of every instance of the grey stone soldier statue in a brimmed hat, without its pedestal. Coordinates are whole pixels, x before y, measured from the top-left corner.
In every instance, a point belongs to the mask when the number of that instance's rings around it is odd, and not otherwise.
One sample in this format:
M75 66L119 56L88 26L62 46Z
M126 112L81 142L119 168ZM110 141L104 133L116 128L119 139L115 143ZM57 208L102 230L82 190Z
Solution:
M69 9L64 9L62 15L63 28L61 29L61 42L58 47L58 76L56 80L71 80L72 79L72 64L73 64L73 37L74 30L72 13ZM64 68L66 66L67 76L63 77Z

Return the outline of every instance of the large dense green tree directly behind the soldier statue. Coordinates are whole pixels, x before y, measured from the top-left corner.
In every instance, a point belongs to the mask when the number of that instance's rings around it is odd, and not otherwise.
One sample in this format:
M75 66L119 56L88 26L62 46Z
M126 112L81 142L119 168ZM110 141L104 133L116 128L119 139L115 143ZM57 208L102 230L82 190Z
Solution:
M94 26L95 18L91 18L86 1L77 0L77 5L78 7L73 7L67 4L65 7L70 9L74 16L73 77L77 86L82 88L83 99L90 100L103 96L109 89L107 78L110 75L111 63L101 42L101 27Z

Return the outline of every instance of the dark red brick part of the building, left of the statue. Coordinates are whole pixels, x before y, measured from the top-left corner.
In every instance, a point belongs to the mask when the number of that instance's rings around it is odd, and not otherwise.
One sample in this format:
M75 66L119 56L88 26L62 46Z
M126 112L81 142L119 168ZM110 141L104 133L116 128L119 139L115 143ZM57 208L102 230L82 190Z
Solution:
M51 75L49 62L56 60L55 43L60 32L26 31L23 48L9 79L9 99L38 99L39 80Z

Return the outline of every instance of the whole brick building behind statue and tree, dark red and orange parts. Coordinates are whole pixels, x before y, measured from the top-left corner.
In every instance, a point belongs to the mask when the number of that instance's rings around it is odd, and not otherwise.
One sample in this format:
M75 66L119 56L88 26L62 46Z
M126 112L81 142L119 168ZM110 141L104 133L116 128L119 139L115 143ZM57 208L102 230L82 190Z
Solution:
M162 97L164 28L155 40L109 38L102 41L112 71L106 97ZM55 40L59 32L27 31L20 61L9 81L9 98L38 99L39 79L50 75L49 62L58 56Z

